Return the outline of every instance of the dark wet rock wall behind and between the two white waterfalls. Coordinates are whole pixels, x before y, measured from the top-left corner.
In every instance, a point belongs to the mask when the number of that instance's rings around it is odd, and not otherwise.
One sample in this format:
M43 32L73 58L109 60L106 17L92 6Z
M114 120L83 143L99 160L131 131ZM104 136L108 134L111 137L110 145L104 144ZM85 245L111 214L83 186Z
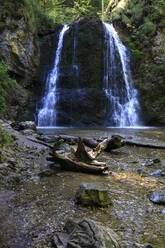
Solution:
M60 29L45 39L41 49L39 81L43 90L46 76L54 64ZM70 26L64 36L57 82L57 125L103 124L103 48L104 31L99 19L84 18ZM43 91L40 93L42 96Z

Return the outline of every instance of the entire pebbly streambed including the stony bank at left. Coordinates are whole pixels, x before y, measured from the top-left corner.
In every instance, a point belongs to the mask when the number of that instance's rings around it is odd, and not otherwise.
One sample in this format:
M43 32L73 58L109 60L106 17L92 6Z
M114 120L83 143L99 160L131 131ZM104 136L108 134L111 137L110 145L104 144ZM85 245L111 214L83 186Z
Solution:
M56 247L54 237L70 217L112 229L123 248L165 247L165 203L152 201L153 192L165 191L164 149L125 145L103 152L99 160L109 166L107 176L62 171L46 160L53 137L59 135L100 139L120 134L127 140L163 145L164 129L69 129L41 135L27 129L16 131L10 124L3 122L15 138L13 146L3 149L6 161L0 164L0 247ZM70 144L66 146L69 149ZM112 202L108 208L76 204L80 183L91 182L108 189Z

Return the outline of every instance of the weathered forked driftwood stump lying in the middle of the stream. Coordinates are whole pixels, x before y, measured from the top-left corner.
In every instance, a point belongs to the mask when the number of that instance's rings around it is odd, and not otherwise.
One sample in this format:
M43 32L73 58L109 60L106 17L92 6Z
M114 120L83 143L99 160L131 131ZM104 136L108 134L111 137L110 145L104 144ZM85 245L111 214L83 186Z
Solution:
M79 138L77 149L71 147L70 152L61 153L60 146L64 140L59 140L52 149L52 158L49 161L57 162L62 169L71 171L81 171L87 173L100 174L105 172L108 167L106 163L96 160L102 151L120 148L123 143L120 136L113 136L112 139L104 139L95 148L86 150L83 139Z

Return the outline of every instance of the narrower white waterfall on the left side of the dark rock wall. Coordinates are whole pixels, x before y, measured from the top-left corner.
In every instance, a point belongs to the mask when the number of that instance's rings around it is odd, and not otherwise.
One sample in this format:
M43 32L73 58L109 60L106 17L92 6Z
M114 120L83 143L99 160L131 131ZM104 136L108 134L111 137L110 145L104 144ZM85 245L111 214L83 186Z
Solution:
M42 99L43 106L38 112L38 126L56 126L56 104L57 104L57 81L59 77L59 65L61 60L61 52L63 47L63 39L66 31L69 29L68 25L63 25L59 34L59 40L56 50L54 67L48 74L46 80L45 95Z

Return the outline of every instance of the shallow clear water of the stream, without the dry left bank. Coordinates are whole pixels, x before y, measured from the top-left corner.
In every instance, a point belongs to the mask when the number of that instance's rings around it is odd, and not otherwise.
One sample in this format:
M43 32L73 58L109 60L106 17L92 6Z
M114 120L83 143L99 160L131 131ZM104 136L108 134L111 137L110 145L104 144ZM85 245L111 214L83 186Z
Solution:
M120 134L127 140L165 145L165 129L45 131L52 135L95 138ZM150 165L150 158L160 162ZM99 160L107 162L111 175L95 176L55 169L50 177L36 176L25 181L11 200L18 242L6 247L52 247L52 236L63 229L68 217L85 217L102 222L116 231L123 248L147 245L165 248L165 206L149 200L152 191L165 188L165 176L151 174L158 169L165 170L165 150L124 146L111 154L103 153ZM77 206L75 193L80 183L84 182L101 182L108 187L111 207L90 209Z

